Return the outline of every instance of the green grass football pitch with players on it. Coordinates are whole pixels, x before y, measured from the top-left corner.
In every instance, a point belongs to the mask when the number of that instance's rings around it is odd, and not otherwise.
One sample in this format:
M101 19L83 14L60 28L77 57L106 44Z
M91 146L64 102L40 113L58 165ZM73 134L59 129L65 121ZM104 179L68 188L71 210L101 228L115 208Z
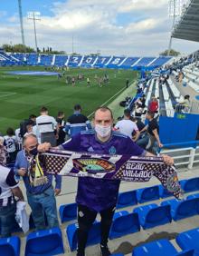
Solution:
M45 71L44 67L0 68L1 133L5 133L8 127L18 128L19 123L32 113L39 115L41 106L48 107L49 114L52 116L56 116L58 111L63 111L67 118L73 112L74 104L80 103L83 113L91 117L91 113L98 106L108 106L126 90L127 78L130 83L137 79L137 72L130 70L76 68L66 71L66 75L83 74L85 79L72 87L71 84L65 83L66 76L58 80L56 75L8 74L11 71L23 70ZM95 80L95 75L99 77L104 74L109 74L109 84L103 84L100 87ZM87 87L87 77L90 78L90 87Z

